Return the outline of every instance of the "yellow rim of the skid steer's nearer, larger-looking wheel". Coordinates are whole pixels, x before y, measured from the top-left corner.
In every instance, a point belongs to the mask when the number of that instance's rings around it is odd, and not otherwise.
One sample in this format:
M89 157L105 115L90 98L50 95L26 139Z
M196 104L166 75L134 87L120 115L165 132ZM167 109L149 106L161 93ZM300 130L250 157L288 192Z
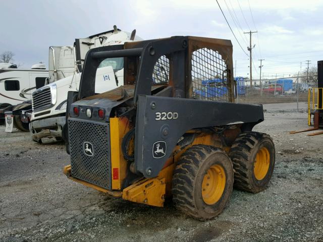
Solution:
M221 165L212 165L202 181L202 198L204 203L212 205L218 202L226 187L226 173Z

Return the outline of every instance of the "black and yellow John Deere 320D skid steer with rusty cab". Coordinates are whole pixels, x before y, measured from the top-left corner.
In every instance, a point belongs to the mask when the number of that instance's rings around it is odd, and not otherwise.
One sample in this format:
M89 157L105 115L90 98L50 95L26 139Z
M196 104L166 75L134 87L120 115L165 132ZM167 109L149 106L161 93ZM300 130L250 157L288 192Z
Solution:
M96 94L107 58L123 58L124 85ZM91 49L79 91L68 96L64 173L132 202L162 207L170 196L192 217L217 216L233 186L260 192L275 165L270 136L252 132L262 105L234 103L235 93L230 40L175 36Z

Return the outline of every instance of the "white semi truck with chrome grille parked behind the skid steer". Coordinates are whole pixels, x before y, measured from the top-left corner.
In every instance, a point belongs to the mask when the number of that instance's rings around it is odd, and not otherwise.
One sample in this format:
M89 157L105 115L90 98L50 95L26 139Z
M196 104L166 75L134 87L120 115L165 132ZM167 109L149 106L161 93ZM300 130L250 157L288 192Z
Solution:
M141 40L141 38L135 37L135 30L130 34L116 27L114 30L88 38L76 39L74 43L74 74L50 83L32 94L32 114L29 125L32 139L36 142L41 142L42 138L62 139L68 92L78 91L81 70L88 50L100 46L123 44L133 40ZM121 85L123 85L123 58L104 59L96 72L95 92L106 92Z

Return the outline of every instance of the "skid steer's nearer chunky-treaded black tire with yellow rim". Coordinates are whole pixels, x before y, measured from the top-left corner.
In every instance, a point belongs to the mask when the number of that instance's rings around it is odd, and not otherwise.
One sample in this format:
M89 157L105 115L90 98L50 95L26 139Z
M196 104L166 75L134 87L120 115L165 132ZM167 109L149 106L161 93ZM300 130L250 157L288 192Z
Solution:
M222 167L217 179L208 180L218 194L218 200L210 202L202 189L204 180L212 167ZM209 179L209 177L208 177ZM208 184L206 184L208 186ZM220 189L219 189L220 187ZM226 207L233 188L233 167L229 156L221 149L208 145L194 145L186 150L176 164L172 180L175 206L187 215L199 220L216 217ZM204 195L202 195L202 190ZM216 194L214 193L214 194ZM206 202L205 202L206 201Z

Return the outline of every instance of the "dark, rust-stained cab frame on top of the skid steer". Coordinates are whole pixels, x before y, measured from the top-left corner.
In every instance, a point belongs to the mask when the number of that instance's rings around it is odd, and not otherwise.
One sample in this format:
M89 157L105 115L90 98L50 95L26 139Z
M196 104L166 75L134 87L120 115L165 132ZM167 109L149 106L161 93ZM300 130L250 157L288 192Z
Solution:
M126 42L89 50L84 61L77 99L95 95L96 69L103 59L124 57L124 84L135 85L134 103L136 104L138 95L151 95L151 74L158 58L163 55L171 60L169 85L173 87L172 96L190 98L192 80L188 73L191 68L191 53L203 47L216 48L227 59L230 101L234 102L231 41L191 36Z

